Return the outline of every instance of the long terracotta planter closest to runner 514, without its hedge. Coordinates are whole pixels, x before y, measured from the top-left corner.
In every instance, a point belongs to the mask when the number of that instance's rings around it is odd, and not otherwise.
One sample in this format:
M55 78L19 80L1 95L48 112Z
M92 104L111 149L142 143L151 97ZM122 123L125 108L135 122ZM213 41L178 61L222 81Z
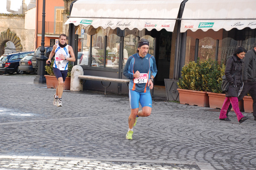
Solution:
M180 104L197 105L201 107L209 107L209 97L207 92L177 89L180 96Z

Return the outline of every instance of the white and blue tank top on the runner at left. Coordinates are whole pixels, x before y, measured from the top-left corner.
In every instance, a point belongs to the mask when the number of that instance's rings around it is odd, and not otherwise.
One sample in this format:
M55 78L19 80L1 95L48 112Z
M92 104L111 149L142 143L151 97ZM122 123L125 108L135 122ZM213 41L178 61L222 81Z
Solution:
M63 54L67 58L70 58L70 54L68 53L68 45L64 48L61 48L57 44L57 48L55 49L55 61L53 63L53 67L58 68L59 70L67 70L68 61L59 58L58 56L61 54Z

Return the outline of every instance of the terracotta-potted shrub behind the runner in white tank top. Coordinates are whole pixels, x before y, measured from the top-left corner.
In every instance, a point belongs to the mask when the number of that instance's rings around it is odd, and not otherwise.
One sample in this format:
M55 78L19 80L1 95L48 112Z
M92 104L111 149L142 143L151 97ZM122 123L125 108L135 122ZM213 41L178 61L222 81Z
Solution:
M71 62L69 62L68 64L68 72L67 72L67 78L64 82L64 90L70 90L70 76L71 76L71 70L73 68L73 64L71 64ZM45 66L45 71L47 72L48 75L44 75L44 77L46 78L46 85L47 88L57 88L58 85L58 80L55 77L54 73L53 73L53 62L51 63L50 66Z

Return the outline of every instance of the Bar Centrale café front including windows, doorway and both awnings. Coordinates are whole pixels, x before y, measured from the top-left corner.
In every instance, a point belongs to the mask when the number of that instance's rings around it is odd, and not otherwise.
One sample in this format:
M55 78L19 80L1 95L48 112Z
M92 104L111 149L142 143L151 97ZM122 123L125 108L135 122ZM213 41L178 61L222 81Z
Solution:
M245 1L79 0L71 3L66 24L84 75L123 78L128 57L136 53L138 40L146 38L157 62L154 84L163 86L164 79L177 80L190 61L211 58L221 63L237 46L252 48L256 2ZM83 29L83 35L78 29ZM104 90L93 81L84 84L84 89ZM128 92L127 86L114 83L108 90Z

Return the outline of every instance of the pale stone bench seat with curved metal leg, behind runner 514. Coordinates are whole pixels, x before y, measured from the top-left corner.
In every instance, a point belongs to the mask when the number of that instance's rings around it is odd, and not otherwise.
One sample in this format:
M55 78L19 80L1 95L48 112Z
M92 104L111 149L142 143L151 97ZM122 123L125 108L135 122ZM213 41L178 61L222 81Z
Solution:
M79 75L79 79L83 80L94 80L94 81L101 81L101 84L103 87L105 87L105 94L106 94L106 89L111 85L111 82L116 82L116 83L121 83L121 84L129 84L130 80L129 79L122 79L122 78L108 78L108 77L100 77L100 76L93 76L93 75ZM103 81L109 82L108 86L103 85Z

